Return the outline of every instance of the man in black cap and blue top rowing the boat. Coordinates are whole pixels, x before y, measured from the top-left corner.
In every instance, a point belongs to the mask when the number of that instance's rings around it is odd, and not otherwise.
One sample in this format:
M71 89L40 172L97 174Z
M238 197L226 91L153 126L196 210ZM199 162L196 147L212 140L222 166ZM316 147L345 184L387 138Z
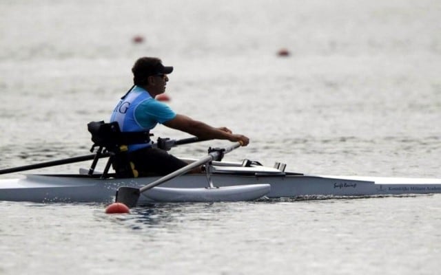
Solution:
M175 113L167 104L156 100L156 96L165 92L169 80L168 74L173 67L166 67L161 59L154 57L139 58L132 67L133 87L116 105L111 122L118 122L121 131L150 131L161 123L172 129L195 135L200 140L229 140L249 143L245 135L232 133L227 127L213 127L204 122L193 120L187 115ZM149 173L167 175L187 165L167 151L152 148L152 144L132 144L127 158L134 164L139 176ZM199 168L200 169L200 168Z

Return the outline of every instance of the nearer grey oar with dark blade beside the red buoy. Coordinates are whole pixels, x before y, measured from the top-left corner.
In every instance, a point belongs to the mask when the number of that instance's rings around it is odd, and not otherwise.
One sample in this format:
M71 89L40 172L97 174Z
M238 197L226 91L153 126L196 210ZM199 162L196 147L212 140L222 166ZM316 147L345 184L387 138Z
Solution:
M116 191L115 201L119 203L124 203L129 208L135 207L136 203L138 203L139 196L141 195L142 192L154 188L159 184L163 184L165 181L173 179L174 177L183 175L189 172L189 170L201 166L202 164L205 164L207 162L212 162L213 160L218 160L223 154L229 153L233 151L235 148L238 148L239 146L240 143L236 143L227 148L215 149L214 151L208 153L206 157L203 157L197 160L196 162L192 162L191 164L188 164L187 166L184 166L183 168L180 168L174 171L173 173L165 175L164 177L161 177L161 179L156 179L156 181L153 181L150 184L147 184L141 188L121 186L120 188L118 188L118 191Z

